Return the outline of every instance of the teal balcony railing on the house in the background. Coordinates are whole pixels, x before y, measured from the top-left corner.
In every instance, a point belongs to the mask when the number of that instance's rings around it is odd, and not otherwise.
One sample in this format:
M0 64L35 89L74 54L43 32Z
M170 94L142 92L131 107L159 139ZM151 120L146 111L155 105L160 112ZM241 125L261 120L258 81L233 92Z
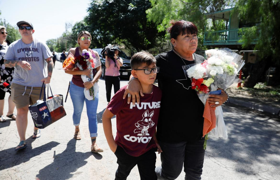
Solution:
M244 28L205 32L203 45L242 44L238 42L244 35L240 29Z

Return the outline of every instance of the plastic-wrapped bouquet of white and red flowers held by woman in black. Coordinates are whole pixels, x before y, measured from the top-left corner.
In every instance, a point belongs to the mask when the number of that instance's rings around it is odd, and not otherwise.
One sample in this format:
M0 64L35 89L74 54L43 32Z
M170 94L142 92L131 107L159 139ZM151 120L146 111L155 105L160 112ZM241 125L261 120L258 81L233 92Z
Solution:
M195 60L195 64L183 67L192 80L192 89L195 89L204 105L211 91L216 91L218 87L226 90L241 82L237 74L245 64L241 55L228 48L209 49L205 54L207 60L204 62ZM216 107L215 116L216 127L206 135L227 139L221 106Z

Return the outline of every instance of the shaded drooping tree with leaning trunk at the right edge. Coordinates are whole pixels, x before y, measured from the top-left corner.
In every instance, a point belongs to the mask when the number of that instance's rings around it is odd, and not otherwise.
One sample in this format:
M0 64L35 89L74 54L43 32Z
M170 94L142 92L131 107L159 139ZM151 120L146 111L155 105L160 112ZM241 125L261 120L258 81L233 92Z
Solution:
M271 65L280 64L280 0L236 0L235 11L244 23L253 23L244 33L244 48L256 41L259 61L252 65L245 87L254 87Z

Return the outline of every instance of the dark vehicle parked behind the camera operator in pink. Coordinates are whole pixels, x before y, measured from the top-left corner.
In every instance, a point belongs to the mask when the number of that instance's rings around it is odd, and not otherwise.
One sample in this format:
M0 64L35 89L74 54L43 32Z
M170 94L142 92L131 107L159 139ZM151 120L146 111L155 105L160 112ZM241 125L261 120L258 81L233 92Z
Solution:
M105 58L103 58L101 55L102 48L95 48L92 50L97 51L97 53L100 56L101 68L102 68L101 78L104 79L106 67L105 67ZM124 78L129 78L131 75L130 57L128 57L123 51L119 53L119 56L123 59L123 66L120 67L120 76Z

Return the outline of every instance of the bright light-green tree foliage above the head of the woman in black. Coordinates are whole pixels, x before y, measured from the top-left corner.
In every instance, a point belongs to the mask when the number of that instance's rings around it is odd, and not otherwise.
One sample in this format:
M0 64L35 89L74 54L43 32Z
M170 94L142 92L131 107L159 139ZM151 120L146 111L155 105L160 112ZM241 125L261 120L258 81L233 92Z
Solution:
M150 0L151 8L146 11L149 21L157 23L158 31L165 31L170 20L186 20L195 23L198 28L198 50L206 49L203 46L204 29L209 22L204 15L208 12L219 11L232 6L229 0ZM215 30L223 26L221 21L213 21ZM224 25L225 27L225 25ZM223 29L224 29L223 27ZM168 36L168 35L167 35Z

